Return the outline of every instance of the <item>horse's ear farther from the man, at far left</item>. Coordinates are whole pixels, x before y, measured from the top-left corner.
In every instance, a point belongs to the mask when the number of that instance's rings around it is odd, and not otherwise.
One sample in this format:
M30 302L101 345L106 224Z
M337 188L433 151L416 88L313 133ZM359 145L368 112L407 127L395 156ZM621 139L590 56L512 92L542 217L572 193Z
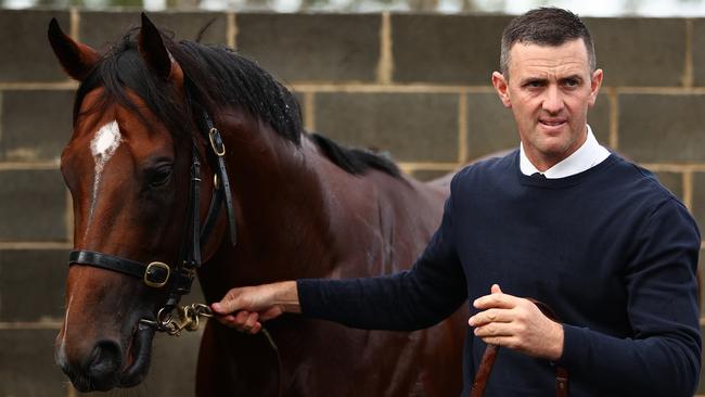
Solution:
M56 18L51 18L47 31L49 43L68 76L82 81L101 55L92 48L74 41L59 26Z

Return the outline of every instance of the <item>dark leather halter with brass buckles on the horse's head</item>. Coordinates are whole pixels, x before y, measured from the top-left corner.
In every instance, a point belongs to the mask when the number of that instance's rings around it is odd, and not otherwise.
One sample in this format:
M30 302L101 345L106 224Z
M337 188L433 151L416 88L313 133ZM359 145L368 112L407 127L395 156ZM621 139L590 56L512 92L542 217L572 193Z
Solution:
M141 324L153 326L156 331L167 332L166 326L174 308L179 304L181 296L191 292L191 284L195 278L195 271L202 265L201 248L206 245L210 236L220 209L225 205L228 217L230 242L236 243L235 214L233 210L232 192L230 191L230 179L226 168L226 146L217 128L210 117L204 112L204 121L208 128L204 137L210 148L206 148L206 157L213 159L215 167L214 190L208 207L206 219L201 226L200 203L201 203L201 159L194 140L191 159L191 182L189 188L189 205L185 218L185 228L181 238L181 249L177 266L169 266L163 261L144 264L137 260L113 256L95 251L72 251L68 255L68 265L92 266L107 269L124 274L132 276L144 282L150 287L167 287L167 300L156 313L156 321L141 319Z

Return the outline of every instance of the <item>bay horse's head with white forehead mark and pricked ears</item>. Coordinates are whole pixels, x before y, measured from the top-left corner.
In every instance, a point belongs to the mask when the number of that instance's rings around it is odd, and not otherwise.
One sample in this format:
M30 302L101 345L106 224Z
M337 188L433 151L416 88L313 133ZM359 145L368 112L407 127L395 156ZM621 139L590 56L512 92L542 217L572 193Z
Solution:
M49 26L60 63L81 82L61 163L74 202L75 265L55 354L81 392L142 381L154 326L141 320L154 320L169 298L180 246L192 238L184 230L195 127L183 73L146 17L134 34L103 56L55 20ZM140 267L156 261L170 269Z

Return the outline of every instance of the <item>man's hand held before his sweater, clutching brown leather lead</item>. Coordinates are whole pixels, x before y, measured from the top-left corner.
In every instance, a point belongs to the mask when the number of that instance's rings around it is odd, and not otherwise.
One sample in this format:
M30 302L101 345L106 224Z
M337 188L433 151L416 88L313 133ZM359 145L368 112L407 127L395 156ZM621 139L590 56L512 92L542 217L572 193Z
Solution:
M476 336L533 357L561 358L564 334L560 323L543 316L530 300L502 293L497 284L490 292L473 304L483 310L467 321Z

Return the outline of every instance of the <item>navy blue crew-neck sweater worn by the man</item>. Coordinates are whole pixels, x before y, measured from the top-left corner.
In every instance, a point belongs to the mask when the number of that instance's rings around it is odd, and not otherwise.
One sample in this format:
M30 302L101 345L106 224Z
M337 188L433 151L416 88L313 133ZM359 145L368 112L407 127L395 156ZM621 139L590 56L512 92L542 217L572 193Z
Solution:
M415 330L467 300L534 297L563 322L572 397L692 396L700 375L697 227L655 177L612 154L562 179L520 171L518 151L451 183L439 229L413 268L299 280L305 315L362 329ZM469 330L463 396L485 344ZM451 375L451 374L449 374ZM500 349L487 396L552 396L547 360Z

